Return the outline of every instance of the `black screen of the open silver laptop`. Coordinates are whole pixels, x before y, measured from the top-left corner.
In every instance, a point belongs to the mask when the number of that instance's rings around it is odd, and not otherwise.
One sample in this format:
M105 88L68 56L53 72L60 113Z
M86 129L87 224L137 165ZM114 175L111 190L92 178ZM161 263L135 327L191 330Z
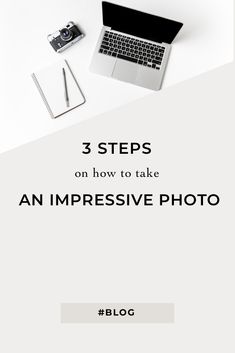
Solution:
M154 42L172 43L183 26L167 18L103 1L104 26Z

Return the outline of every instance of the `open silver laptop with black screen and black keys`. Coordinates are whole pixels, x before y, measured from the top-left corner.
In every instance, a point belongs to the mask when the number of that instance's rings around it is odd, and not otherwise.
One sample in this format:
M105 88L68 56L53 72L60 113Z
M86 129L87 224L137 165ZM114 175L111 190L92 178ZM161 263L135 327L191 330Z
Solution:
M103 28L90 70L159 90L171 44L183 24L107 1L102 11Z

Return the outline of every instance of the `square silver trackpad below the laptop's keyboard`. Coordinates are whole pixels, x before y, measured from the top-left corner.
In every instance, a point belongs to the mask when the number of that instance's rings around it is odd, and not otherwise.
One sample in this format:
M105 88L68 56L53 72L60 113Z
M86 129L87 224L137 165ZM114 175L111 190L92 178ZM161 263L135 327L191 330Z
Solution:
M117 59L112 77L126 82L135 83L138 65L122 59Z

